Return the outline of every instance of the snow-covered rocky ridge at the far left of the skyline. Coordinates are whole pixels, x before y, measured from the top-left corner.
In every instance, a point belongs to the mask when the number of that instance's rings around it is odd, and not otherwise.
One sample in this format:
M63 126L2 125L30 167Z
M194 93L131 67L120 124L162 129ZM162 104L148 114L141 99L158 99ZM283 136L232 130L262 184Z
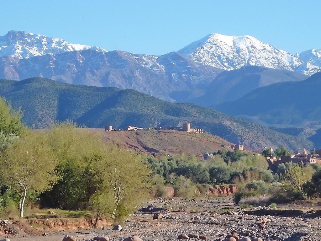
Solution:
M107 52L99 47L72 44L63 39L46 37L42 34L25 31L9 31L7 34L0 36L0 57L12 56L22 59L44 54L55 55L62 52L85 49Z

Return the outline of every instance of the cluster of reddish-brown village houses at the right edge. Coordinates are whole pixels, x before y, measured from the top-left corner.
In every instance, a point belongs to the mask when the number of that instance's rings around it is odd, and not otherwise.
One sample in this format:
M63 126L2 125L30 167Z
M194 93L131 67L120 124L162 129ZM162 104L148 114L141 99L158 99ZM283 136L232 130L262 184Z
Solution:
M273 152L273 149L271 153ZM321 149L316 149L315 154L308 154L308 151L306 149L303 149L302 153L299 153L299 150L297 154L295 155L284 155L281 156L281 158L277 158L276 156L268 156L266 157L267 161L269 162L269 165L279 165L281 163L297 163L297 164L319 164L321 165Z

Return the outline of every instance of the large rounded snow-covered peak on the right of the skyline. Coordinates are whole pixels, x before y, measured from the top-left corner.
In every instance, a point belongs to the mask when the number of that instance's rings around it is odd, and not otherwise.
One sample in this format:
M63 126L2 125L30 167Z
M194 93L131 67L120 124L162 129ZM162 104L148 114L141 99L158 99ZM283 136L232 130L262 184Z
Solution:
M213 33L178 52L198 63L224 70L257 65L312 75L321 67L321 49L293 55L248 35L233 37Z

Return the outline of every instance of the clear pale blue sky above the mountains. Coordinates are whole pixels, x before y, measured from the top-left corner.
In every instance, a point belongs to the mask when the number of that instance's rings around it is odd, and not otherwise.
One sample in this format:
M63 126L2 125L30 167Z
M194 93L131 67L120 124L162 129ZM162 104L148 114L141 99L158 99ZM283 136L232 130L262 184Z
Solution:
M144 54L176 51L209 33L252 35L291 53L321 48L321 1L15 0L1 5L0 35L41 33Z

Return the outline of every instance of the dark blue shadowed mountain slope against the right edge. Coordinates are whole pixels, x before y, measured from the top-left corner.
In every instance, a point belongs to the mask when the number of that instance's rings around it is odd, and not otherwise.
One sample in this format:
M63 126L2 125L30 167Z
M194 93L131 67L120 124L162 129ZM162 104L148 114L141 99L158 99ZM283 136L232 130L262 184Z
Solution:
M298 82L258 88L242 98L213 106L218 111L268 124L321 124L321 72Z

